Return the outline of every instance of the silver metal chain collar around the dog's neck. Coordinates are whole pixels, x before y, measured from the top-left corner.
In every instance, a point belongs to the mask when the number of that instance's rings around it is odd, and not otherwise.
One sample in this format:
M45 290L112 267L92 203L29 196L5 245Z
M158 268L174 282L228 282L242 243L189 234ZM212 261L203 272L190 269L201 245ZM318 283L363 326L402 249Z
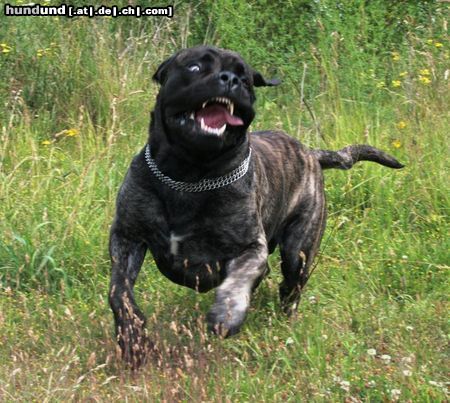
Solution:
M164 175L156 165L156 161L151 157L150 145L147 144L145 147L145 160L147 161L148 167L162 183L169 186L172 189L179 190L181 192L203 192L205 190L213 190L221 187L228 186L229 184L236 182L238 179L242 178L248 171L250 164L250 157L252 155L252 149L249 149L247 158L242 161L236 169L227 173L226 175L219 176L213 179L202 179L199 182L179 182L169 178Z

